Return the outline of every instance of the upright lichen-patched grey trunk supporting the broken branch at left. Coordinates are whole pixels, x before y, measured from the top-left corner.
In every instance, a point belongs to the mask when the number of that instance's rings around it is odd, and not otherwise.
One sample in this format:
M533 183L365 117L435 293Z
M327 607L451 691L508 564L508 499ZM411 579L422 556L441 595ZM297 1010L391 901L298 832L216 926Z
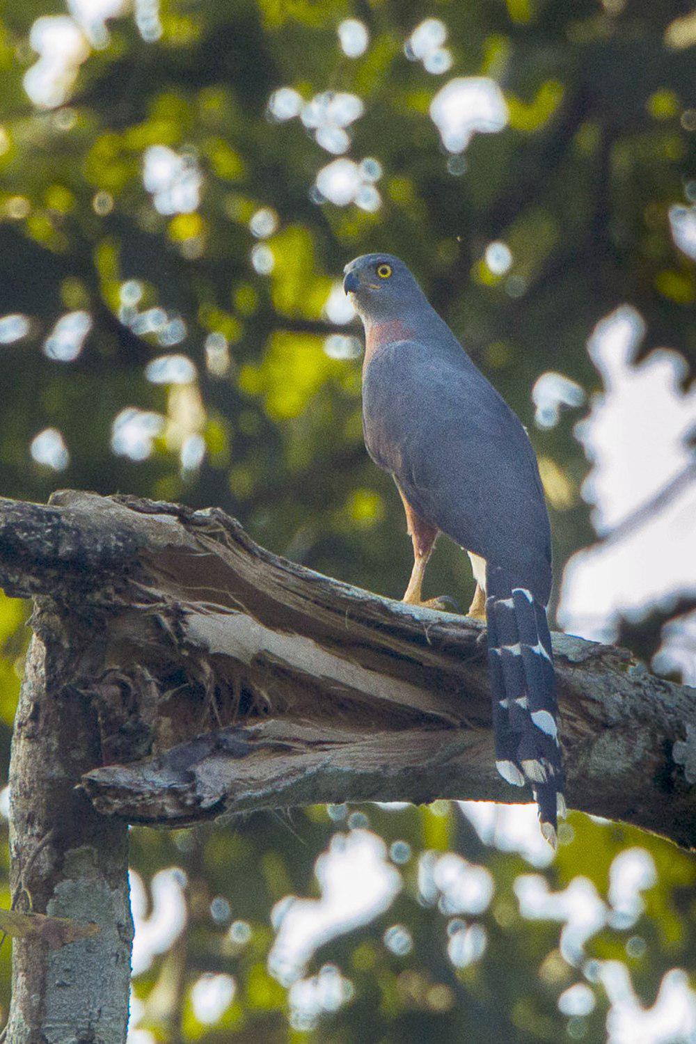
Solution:
M8 1044L123 1044L133 923L127 827L95 812L80 775L99 763L90 703L67 683L90 657L47 610L34 614L9 768L10 885L19 910L94 922L96 934L49 949L17 939ZM87 639L83 643L79 638Z

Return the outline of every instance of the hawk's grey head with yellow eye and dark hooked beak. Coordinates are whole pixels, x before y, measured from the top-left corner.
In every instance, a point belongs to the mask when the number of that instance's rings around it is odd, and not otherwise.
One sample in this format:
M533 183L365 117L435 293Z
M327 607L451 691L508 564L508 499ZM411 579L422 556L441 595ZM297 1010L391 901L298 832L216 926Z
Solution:
M423 304L424 293L415 278L392 254L363 254L343 271L343 289L363 322L400 318Z

